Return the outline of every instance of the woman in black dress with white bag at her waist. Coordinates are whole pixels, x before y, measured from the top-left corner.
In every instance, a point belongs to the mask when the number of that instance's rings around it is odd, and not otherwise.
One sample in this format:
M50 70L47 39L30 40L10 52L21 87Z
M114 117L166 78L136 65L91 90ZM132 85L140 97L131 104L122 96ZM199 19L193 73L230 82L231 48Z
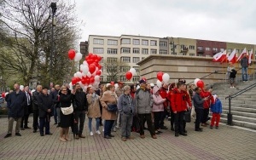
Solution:
M67 87L61 87L60 95L60 106L61 108L69 107L72 104L72 94L67 94ZM61 111L61 129L60 129L60 140L68 141L69 139L69 127L73 124L73 113L64 115Z

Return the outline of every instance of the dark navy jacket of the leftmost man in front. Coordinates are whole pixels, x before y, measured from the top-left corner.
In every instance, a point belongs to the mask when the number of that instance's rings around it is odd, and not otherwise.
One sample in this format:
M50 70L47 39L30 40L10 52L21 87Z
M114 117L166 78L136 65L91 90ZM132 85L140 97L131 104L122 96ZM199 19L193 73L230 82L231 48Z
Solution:
M22 91L15 91L9 94L8 100L9 117L23 117L26 103L26 94Z

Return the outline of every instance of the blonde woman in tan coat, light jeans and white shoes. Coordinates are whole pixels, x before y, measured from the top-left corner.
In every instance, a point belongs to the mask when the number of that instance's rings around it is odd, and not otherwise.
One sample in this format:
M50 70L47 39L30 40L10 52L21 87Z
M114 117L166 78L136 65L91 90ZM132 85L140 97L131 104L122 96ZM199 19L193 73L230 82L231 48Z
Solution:
M100 117L101 117L101 110L100 110L100 103L99 103L100 96L95 93L95 90L92 89L92 87L88 87L86 98L89 105L87 117L89 118L88 127L90 130L90 135L93 135L93 132L91 129L92 118L96 119L96 134L101 134L101 132L99 131Z

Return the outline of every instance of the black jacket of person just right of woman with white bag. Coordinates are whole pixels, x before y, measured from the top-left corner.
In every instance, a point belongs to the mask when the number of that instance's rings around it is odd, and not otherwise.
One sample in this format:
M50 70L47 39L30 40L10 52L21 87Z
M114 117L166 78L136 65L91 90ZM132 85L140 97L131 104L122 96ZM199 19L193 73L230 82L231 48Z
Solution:
M88 102L83 91L73 95L73 108L74 111L88 111Z

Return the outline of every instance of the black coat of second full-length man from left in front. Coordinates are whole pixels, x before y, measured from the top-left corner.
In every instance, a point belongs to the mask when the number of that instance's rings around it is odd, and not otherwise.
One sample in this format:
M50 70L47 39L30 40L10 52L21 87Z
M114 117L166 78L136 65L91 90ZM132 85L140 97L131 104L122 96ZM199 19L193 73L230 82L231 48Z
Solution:
M53 105L54 102L49 94L40 94L38 96L39 117L46 117L46 115L50 115L50 112L47 110L52 109Z

